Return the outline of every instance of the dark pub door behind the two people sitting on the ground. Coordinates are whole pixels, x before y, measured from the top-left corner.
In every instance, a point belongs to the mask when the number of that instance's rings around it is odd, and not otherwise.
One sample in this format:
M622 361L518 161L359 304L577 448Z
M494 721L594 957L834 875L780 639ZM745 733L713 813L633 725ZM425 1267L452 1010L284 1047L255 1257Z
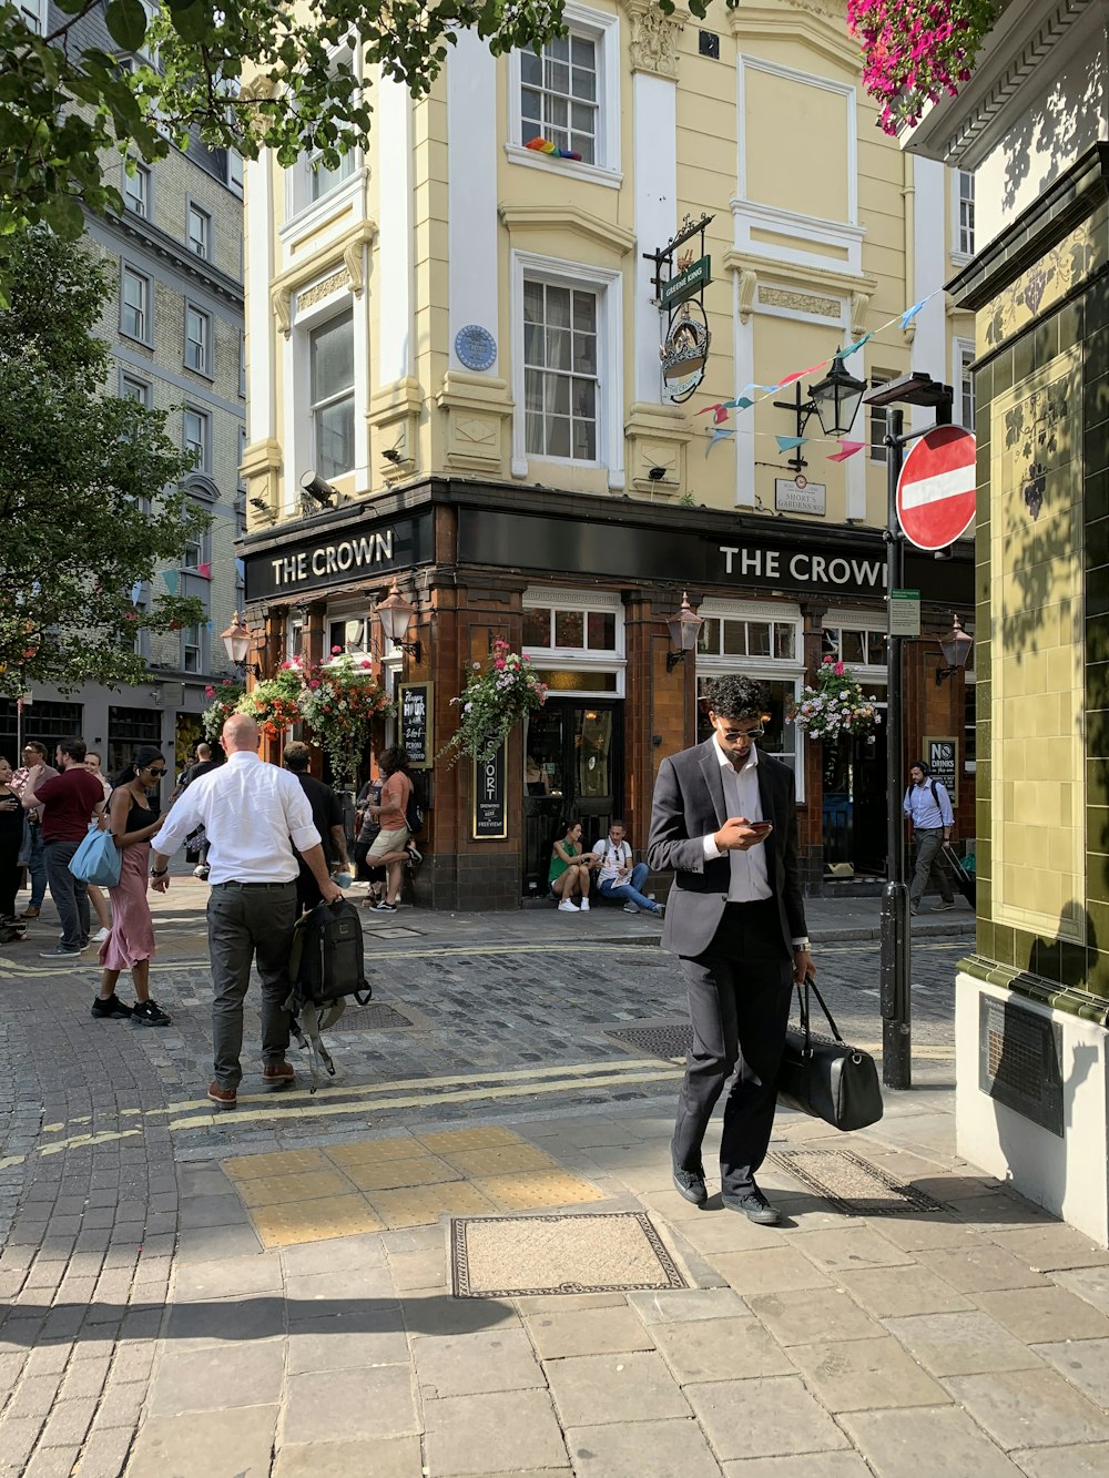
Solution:
M549 698L528 724L523 774L523 894L547 891L550 850L571 817L591 847L624 797L624 705Z

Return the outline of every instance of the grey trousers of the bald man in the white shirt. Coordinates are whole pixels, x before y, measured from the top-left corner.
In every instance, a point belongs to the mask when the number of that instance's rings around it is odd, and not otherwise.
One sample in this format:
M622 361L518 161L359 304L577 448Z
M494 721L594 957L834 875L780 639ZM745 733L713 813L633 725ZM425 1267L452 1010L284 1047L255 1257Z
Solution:
M220 1088L243 1080L243 1002L250 964L262 978L262 1061L288 1051L288 950L297 919L296 882L217 882L208 897L211 1041Z

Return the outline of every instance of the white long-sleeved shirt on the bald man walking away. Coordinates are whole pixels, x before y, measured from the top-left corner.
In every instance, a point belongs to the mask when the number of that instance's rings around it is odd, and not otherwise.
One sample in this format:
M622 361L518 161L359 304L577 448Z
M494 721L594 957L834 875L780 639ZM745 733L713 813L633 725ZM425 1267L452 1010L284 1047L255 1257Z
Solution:
M293 882L293 847L319 842L300 780L253 749L194 780L166 817L151 850L169 857L200 825L208 838L208 882Z

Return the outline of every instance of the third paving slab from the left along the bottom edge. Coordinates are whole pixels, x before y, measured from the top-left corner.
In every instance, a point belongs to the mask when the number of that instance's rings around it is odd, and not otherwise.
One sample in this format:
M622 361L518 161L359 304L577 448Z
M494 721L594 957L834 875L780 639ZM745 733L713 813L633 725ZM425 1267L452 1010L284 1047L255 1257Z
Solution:
M566 1444L546 1391L424 1401L427 1478L565 1469Z

